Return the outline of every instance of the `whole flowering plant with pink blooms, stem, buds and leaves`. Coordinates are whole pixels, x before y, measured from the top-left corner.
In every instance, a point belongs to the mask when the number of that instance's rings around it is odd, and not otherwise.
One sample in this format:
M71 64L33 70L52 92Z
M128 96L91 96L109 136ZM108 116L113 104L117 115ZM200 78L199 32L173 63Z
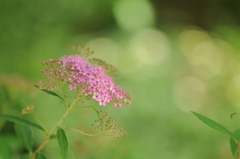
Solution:
M33 104L25 106L21 114L31 114L35 122L0 114L0 118L15 123L17 136L28 150L30 159L46 158L41 150L52 138L57 138L62 158L66 159L68 141L64 129L73 130L86 136L105 135L119 138L127 135L124 129L120 128L117 122L109 116L108 112L96 109L97 106L106 106L107 104L113 107L122 107L123 103L131 104L130 94L121 86L116 85L110 76L115 73L115 68L101 59L89 58L93 51L88 48L79 45L70 45L69 48L77 54L43 61L42 64L46 68L42 70L42 74L46 79L39 80L38 84L34 85L41 91L57 97L65 106L65 114L51 130L48 130L38 118ZM85 105L85 101L90 99L96 100L98 104ZM97 113L98 119L93 124L96 129L95 133L89 134L62 124L72 111L83 108L91 108ZM32 128L42 130L46 134L45 139L34 150Z

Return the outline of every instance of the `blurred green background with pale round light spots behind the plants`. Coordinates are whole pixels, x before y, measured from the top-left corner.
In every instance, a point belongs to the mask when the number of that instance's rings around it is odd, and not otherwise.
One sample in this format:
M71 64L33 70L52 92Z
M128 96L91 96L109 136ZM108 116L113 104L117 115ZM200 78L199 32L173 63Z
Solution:
M240 117L230 119L240 108L239 6L237 0L0 0L0 113L20 116L34 104L47 128L54 126L64 108L32 85L42 78L41 61L83 44L116 66L116 83L133 100L98 108L108 110L127 137L111 143L66 130L77 158L231 158L228 136L190 111L239 128ZM91 132L95 118L79 110L66 123ZM12 127L0 122L0 159L25 153ZM37 147L44 134L35 133ZM57 141L43 153L60 158ZM76 158L73 151L68 158Z

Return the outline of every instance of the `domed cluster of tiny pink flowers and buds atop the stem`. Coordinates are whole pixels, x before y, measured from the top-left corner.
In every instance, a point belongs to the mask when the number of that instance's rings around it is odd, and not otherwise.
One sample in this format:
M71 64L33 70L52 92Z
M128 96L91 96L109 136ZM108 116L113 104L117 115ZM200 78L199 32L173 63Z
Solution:
M89 63L80 55L63 56L59 60L43 62L48 68L42 70L48 81L39 81L41 88L56 89L62 82L68 83L70 90L76 90L76 97L90 97L99 105L112 104L122 107L121 103L131 104L130 94L115 85L113 78L97 65Z

